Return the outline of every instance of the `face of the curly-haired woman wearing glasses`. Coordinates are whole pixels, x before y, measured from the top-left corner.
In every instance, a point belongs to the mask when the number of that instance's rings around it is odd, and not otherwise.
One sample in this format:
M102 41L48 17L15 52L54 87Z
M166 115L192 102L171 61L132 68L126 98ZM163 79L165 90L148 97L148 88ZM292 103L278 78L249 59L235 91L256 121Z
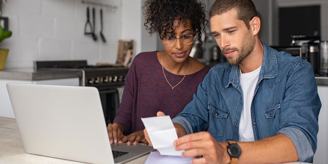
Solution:
M174 30L175 37L180 37L181 35L188 34L188 33L194 33L194 29L193 29L192 24L189 19L186 19L186 22L180 22L180 26L179 26L178 22L179 22L178 19L174 20L173 29L175 29ZM186 23L186 27L184 27L184 25L185 25L184 23ZM161 34L161 36L163 36L163 33ZM171 36L171 31L167 31L166 35L164 35L164 36ZM186 37L184 37L182 39L184 40L185 38ZM171 38L171 39L174 40L174 38ZM177 63L182 63L182 62L186 61L186 59L188 58L188 56L191 52L191 49L193 48L193 43L189 44L189 45L186 45L186 43L183 44L181 42L180 38L176 38L175 45L172 47L166 46L163 43L164 40L161 40L161 41L162 41L162 44L163 44L166 54L168 54Z

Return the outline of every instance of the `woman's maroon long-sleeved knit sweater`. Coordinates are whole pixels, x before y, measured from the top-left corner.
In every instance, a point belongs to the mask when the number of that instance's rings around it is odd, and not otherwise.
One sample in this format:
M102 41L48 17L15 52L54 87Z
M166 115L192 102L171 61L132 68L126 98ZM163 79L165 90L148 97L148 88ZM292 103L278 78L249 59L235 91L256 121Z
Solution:
M133 59L126 75L122 102L113 123L123 125L124 134L128 135L145 128L140 118L156 116L158 111L170 115L171 119L174 118L193 99L199 83L209 70L210 67L204 67L198 72L186 75L172 90L165 80L156 51L139 53ZM184 76L165 69L164 72L172 86L179 83Z

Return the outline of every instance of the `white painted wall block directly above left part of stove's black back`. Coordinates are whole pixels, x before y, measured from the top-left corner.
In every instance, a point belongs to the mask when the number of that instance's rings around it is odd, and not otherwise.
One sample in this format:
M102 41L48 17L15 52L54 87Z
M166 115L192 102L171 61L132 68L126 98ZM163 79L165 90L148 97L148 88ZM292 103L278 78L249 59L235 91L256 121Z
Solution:
M39 60L70 60L71 40L40 39Z

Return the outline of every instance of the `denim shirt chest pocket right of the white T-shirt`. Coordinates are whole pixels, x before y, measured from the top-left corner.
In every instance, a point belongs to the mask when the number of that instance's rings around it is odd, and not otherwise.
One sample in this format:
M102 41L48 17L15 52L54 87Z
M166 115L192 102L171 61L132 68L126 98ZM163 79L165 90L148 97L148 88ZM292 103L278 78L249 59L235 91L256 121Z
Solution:
M267 118L268 121L270 135L275 135L279 131L280 106L281 106L281 101L277 101L277 103L274 105L273 108L264 111L265 117Z

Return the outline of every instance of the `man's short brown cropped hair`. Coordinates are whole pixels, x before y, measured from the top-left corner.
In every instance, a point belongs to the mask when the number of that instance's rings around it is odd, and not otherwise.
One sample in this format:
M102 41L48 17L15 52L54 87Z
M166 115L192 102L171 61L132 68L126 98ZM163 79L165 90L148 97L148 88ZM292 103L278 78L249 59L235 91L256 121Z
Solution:
M249 29L249 22L257 16L252 0L216 0L210 9L210 19L232 9L237 10L237 19L244 21Z

